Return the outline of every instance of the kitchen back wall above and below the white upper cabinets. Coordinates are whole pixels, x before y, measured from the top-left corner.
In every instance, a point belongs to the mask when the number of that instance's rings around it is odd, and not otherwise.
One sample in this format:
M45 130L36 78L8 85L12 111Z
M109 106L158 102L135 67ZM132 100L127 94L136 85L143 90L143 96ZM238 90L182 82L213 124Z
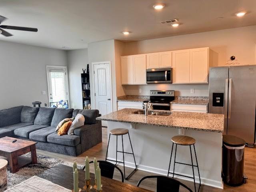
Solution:
M124 55L144 54L187 48L210 47L210 56L213 66L225 66L230 56L236 56L241 65L255 64L256 26L232 28L196 34L187 34L143 40L138 42L126 42ZM208 84L199 85L144 85L123 86L125 94L148 95L152 89L179 90L180 96L208 96ZM138 89L142 88L142 93ZM195 89L190 94L190 88Z

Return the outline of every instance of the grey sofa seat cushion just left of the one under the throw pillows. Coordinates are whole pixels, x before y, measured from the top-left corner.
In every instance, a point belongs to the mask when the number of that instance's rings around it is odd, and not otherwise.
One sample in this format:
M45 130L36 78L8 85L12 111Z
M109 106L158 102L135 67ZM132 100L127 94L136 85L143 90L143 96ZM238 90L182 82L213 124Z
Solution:
M55 127L46 127L36 131L33 131L29 134L29 139L34 141L47 142L47 136L55 132Z

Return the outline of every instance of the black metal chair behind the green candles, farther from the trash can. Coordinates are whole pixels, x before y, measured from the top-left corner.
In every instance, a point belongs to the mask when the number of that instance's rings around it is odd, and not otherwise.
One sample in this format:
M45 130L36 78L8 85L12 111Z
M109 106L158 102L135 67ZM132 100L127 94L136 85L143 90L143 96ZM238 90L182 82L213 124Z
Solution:
M93 163L93 161L90 161L89 163ZM115 166L114 164L107 162L107 161L101 161L98 160L99 163L99 167L100 167L100 173L101 176L113 179L114 176L114 170L115 168L120 172L121 176L122 176L122 182L124 182L124 174L123 172L120 170L120 168L118 166ZM83 170L85 169L85 166L83 167Z

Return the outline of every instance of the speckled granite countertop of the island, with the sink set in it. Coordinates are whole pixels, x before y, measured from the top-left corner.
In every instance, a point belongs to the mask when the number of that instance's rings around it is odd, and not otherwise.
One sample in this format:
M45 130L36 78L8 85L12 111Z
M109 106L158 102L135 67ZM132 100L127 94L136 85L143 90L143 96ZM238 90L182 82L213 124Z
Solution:
M122 109L96 118L97 120L125 122L134 124L146 124L164 126L170 128L184 128L190 130L220 132L224 130L224 115L194 112L172 112L170 116L145 116L133 114L138 109ZM157 112L157 110L154 110ZM165 112L166 111L162 111ZM170 113L170 112L167 112Z

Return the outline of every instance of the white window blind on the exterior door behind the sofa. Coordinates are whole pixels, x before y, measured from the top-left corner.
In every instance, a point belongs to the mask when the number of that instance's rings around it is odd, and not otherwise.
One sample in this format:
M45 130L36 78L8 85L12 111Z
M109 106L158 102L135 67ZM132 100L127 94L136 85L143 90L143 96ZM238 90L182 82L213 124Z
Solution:
M65 71L50 71L52 84L52 102L68 100Z

